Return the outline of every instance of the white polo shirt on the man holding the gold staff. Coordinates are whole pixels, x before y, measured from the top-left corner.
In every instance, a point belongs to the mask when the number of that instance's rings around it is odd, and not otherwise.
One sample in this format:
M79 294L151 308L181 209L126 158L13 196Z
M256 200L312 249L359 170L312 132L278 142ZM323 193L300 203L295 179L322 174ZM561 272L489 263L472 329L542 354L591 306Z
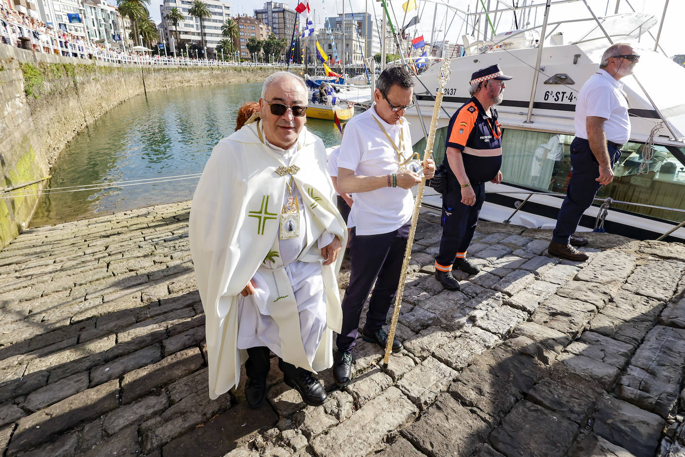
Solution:
M384 127L388 136L401 149L400 129L403 129L404 155L412 155L412 139L409 123L390 125L378 116L373 106L347 122L343 143L340 145L338 167L354 171L356 175L378 176L397 173L397 153L388 143L376 121ZM350 217L356 224L358 235L377 235L393 232L412 219L414 197L409 189L382 187L369 192L354 194Z

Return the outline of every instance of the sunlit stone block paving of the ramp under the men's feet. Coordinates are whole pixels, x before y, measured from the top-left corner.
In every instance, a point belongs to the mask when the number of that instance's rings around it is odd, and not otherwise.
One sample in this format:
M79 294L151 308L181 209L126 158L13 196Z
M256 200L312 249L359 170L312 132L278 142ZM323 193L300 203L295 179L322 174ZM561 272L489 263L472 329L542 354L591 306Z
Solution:
M33 228L0 251L0 456L685 455L682 244L588 234L590 260L560 262L549 231L480 221L482 272L451 292L423 214L403 351L385 367L360 341L349 386L317 375L319 407L273 358L255 410L244 370L208 396L189 211Z

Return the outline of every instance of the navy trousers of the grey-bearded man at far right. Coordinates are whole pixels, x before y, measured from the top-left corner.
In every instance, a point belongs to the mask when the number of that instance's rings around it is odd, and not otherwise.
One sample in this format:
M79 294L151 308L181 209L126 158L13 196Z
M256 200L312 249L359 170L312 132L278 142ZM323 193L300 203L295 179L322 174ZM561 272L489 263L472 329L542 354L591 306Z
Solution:
M607 148L613 167L616 160L621 157L621 149L613 144L608 144ZM593 204L597 190L601 187L601 184L595 181L598 177L599 162L590 149L590 143L583 138L573 138L573 143L571 143L571 179L552 234L553 243L569 244L569 238L575 232L580 218L585 210Z

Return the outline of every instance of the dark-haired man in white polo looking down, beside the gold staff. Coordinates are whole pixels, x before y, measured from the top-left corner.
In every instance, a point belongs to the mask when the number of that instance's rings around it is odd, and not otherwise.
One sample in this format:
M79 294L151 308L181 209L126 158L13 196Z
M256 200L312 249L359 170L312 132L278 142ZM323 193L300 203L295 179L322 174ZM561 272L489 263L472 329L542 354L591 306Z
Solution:
M407 246L414 199L410 188L421 177L406 169L412 158L409 125L403 118L412 106L414 81L401 66L385 69L378 77L371 108L347 123L338 158L338 187L354 194L350 218L351 276L343 299L343 328L336 341L333 373L338 386L352 378L352 349L358 336L364 301L375 281L362 329L365 341L385 348L388 334L382 329L395 299L402 259ZM428 160L423 173L433 177L435 164ZM393 341L393 352L402 344Z

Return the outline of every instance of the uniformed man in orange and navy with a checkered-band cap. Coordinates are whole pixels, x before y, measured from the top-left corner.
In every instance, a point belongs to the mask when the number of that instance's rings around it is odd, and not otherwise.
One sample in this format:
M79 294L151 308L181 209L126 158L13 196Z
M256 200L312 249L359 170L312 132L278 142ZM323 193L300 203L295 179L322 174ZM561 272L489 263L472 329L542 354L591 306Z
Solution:
M435 276L450 291L459 290L453 268L472 275L480 271L466 259L466 251L485 200L485 182L502 181L502 131L493 106L501 103L507 79L512 77L497 65L473 73L471 99L449 121L445 153L448 191L443 197L443 238Z

